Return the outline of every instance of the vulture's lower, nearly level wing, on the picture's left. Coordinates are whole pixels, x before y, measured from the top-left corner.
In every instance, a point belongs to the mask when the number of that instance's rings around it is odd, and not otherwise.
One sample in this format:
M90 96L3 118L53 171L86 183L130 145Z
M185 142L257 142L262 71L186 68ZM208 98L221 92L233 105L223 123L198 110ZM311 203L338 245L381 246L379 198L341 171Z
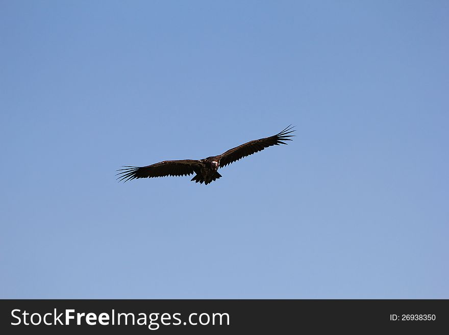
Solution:
M195 160L163 161L143 167L123 166L124 169L117 170L121 172L116 175L119 182L127 182L137 178L181 176L199 172L201 165L200 161Z

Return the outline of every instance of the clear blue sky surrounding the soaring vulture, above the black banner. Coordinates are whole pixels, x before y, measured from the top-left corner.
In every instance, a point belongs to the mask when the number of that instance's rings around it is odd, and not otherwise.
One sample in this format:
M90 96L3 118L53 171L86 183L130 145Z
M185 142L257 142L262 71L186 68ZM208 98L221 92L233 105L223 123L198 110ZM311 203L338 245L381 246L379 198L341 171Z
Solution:
M0 2L0 297L449 298L448 17ZM208 186L115 181L290 123Z

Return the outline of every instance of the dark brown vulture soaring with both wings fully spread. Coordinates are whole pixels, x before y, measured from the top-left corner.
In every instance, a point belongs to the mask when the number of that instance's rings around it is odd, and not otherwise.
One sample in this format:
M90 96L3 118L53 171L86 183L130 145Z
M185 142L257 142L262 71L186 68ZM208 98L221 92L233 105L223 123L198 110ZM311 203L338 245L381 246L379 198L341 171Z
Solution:
M163 161L148 166L123 166L123 169L117 170L116 176L118 181L127 182L138 178L153 178L164 176L184 176L195 174L191 179L192 182L200 184L210 184L221 177L217 172L218 168L225 167L231 163L250 156L250 154L259 152L272 145L287 144L284 141L291 141L289 135L294 132L291 124L282 132L253 140L235 148L229 149L218 156L211 156L202 160L178 160L178 161Z

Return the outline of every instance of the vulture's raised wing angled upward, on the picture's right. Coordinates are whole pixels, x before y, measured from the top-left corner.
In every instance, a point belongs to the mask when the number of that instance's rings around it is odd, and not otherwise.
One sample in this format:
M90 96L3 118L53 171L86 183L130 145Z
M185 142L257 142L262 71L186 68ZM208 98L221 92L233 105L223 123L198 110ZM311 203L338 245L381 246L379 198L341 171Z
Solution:
M269 146L287 144L283 141L291 141L289 137L293 137L294 135L288 134L294 132L292 128L293 127L290 124L282 132L276 135L250 141L245 144L239 145L238 147L229 149L228 151L221 154L220 167L227 166L228 164L234 163L235 161L238 161L243 157L250 156L250 154L261 151Z

